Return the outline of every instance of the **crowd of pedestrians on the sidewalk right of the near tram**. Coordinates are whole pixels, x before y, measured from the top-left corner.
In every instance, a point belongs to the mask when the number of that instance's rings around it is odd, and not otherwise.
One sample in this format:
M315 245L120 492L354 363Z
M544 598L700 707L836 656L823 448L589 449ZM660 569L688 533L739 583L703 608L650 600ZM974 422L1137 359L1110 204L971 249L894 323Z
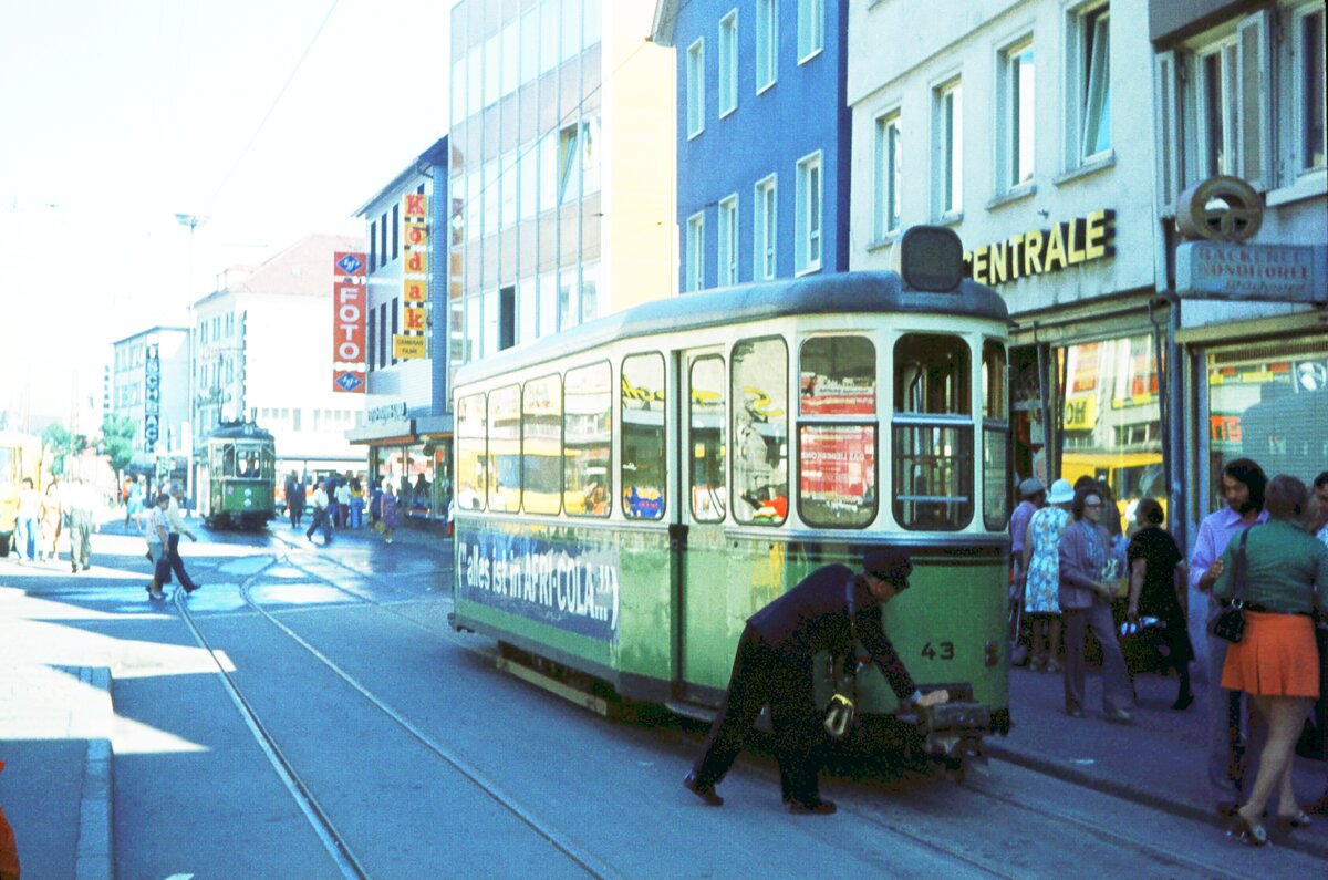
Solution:
M1307 811L1292 784L1297 740L1303 752L1328 758L1328 471L1309 488L1292 475L1268 479L1250 459L1227 463L1226 506L1203 520L1189 560L1163 528L1157 500L1134 504L1127 534L1110 487L1092 477L1074 485L1056 480L1049 489L1031 477L1019 493L1011 517L1013 633L1017 639L1027 615L1029 650L1019 645L1012 662L1027 657L1031 670L1061 673L1066 715L1086 718L1092 631L1102 657L1104 716L1127 724L1134 690L1117 633L1133 638L1150 630L1158 667L1177 673L1171 709L1186 711L1198 655L1187 627L1193 589L1208 605L1207 776L1218 812L1232 836L1251 845L1270 839L1264 820L1272 800L1283 835L1308 825L1309 812L1328 814L1328 792ZM1118 629L1113 607L1121 602Z

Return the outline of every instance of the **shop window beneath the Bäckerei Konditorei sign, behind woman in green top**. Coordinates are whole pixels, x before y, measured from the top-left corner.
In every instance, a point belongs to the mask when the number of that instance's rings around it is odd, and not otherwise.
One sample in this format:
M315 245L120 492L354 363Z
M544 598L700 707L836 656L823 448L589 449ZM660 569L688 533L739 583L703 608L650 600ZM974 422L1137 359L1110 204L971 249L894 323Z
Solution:
M1207 508L1224 504L1222 468L1254 459L1268 477L1309 485L1328 468L1328 342L1279 340L1211 352Z

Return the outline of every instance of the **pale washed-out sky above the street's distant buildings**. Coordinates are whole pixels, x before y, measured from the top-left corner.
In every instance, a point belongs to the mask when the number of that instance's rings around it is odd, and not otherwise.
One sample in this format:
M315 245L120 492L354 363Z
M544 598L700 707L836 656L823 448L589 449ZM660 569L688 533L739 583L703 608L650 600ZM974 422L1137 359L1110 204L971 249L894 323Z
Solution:
M364 235L446 134L450 8L0 0L0 409L64 417L226 267Z

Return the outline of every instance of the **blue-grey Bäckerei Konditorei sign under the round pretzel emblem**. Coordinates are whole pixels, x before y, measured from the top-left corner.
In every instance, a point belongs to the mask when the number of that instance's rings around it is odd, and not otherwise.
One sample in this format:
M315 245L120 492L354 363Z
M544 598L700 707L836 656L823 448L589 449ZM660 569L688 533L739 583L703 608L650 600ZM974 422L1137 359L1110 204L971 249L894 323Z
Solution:
M1186 242L1175 290L1191 299L1328 303L1328 247Z

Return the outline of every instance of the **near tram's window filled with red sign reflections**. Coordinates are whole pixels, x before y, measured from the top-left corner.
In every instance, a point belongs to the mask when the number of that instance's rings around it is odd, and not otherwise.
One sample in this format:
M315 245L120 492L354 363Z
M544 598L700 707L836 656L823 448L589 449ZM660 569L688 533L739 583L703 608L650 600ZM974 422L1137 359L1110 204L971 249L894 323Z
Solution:
M815 336L798 364L798 512L807 525L861 529L876 518L876 347Z

